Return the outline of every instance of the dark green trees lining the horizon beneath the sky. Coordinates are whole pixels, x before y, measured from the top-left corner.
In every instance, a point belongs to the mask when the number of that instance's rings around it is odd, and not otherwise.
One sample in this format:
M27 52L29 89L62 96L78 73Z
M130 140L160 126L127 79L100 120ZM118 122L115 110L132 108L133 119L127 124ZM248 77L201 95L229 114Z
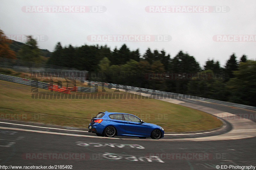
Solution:
M10 50L3 42L0 45L0 49ZM16 54L24 61L41 62L37 42L31 36ZM8 58L3 52L0 56ZM92 81L256 106L256 61L248 60L246 55L237 59L231 54L223 68L219 61L208 59L201 68L194 56L183 51L171 58L164 49L148 48L140 54L139 48L131 50L126 44L111 50L107 45L63 47L58 42L47 63L87 70Z

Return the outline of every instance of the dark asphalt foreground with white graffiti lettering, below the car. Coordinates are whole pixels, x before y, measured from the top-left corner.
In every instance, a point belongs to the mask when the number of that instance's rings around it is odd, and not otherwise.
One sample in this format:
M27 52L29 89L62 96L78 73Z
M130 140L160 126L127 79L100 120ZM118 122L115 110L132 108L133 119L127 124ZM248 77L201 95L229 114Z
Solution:
M14 144L3 147L10 142ZM216 169L217 165L256 165L255 137L230 141L164 142L1 129L0 145L0 165L5 166L72 165L73 169L195 170ZM53 154L56 154L55 159L52 159Z

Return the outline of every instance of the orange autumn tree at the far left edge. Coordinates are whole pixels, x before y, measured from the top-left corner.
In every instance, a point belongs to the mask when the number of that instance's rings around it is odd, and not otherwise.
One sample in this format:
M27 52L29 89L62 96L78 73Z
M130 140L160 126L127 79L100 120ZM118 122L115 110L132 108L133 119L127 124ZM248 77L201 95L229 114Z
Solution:
M16 59L15 52L9 47L12 40L8 39L2 30L0 30L0 57Z

